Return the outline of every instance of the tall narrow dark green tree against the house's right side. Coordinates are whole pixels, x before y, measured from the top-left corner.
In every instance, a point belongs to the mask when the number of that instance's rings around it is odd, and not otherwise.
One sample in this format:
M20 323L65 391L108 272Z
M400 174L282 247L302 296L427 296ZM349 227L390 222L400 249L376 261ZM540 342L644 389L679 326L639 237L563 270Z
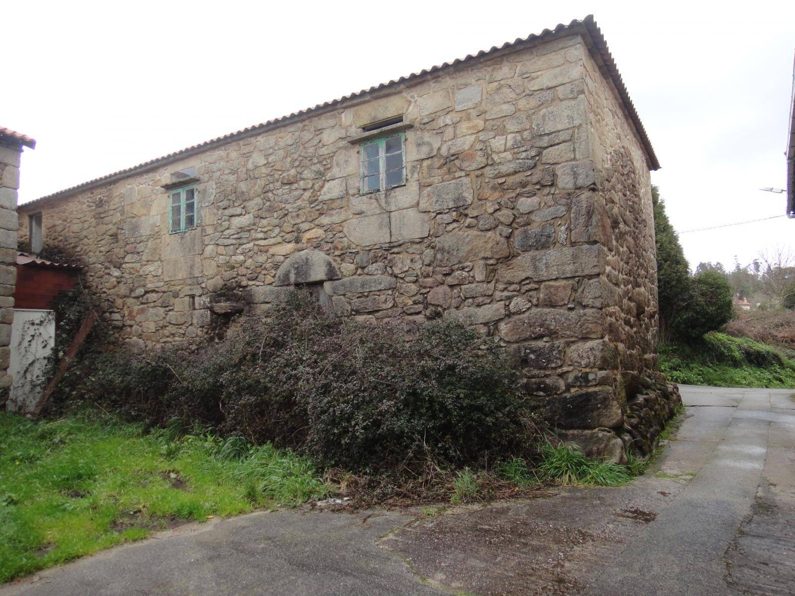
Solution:
M689 265L668 215L665 201L656 186L651 188L654 205L654 238L657 244L657 296L660 301L660 325L663 336L667 335L677 309L688 298L690 285Z

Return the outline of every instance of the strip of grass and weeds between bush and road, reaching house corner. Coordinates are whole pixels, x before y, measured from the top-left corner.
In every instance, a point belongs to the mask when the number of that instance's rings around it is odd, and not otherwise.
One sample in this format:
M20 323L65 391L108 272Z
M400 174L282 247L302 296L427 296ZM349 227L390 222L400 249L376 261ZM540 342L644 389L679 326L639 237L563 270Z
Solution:
M145 429L96 410L39 421L0 412L0 583L187 521L332 493L352 497L346 508L426 503L423 516L432 517L447 503L533 497L549 486L622 486L645 467L642 459L593 461L544 440L532 459L387 482L322 474L270 443Z

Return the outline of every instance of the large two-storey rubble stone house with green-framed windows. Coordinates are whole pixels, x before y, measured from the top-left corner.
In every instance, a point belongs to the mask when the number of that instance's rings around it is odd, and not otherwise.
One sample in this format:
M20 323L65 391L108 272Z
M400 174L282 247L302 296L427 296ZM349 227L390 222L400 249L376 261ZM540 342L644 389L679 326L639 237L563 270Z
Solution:
M138 349L298 284L372 323L465 321L621 459L677 399L654 372L658 167L587 17L37 199L20 238L79 258Z

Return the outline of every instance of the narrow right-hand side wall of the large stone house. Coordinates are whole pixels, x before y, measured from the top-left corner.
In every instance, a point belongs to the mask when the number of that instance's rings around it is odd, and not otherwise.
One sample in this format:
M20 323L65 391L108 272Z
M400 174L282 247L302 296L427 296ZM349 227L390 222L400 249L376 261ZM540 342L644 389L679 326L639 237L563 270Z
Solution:
M603 312L606 336L600 354L603 382L624 412L611 427L625 445L648 453L681 404L678 389L657 370L657 260L651 180L646 157L615 89L591 56L584 60L590 119L591 157L597 194L572 213L591 219L593 235L606 253ZM582 238L586 239L586 238ZM601 384L601 383L600 383Z

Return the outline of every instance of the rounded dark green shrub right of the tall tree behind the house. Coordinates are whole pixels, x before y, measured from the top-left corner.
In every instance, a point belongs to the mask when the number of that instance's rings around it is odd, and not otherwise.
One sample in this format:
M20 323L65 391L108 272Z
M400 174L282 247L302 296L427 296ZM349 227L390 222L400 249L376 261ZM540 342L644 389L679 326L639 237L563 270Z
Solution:
M674 319L674 330L681 338L700 339L717 331L734 314L731 285L723 273L704 271L690 278L690 292Z

